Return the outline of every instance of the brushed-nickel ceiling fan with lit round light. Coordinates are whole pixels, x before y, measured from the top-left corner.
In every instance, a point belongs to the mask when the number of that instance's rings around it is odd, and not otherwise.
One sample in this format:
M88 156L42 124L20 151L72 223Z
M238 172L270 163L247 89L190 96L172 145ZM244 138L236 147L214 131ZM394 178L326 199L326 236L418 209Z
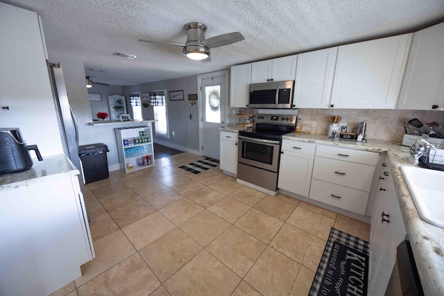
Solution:
M191 60L205 60L206 58L210 57L210 49L233 44L245 39L244 36L242 36L242 34L239 32L227 33L205 39L205 31L207 31L207 26L198 22L185 24L185 28L187 29L188 34L187 42L185 42L185 44L142 39L139 39L139 42L183 46L182 53L187 58L190 58Z

